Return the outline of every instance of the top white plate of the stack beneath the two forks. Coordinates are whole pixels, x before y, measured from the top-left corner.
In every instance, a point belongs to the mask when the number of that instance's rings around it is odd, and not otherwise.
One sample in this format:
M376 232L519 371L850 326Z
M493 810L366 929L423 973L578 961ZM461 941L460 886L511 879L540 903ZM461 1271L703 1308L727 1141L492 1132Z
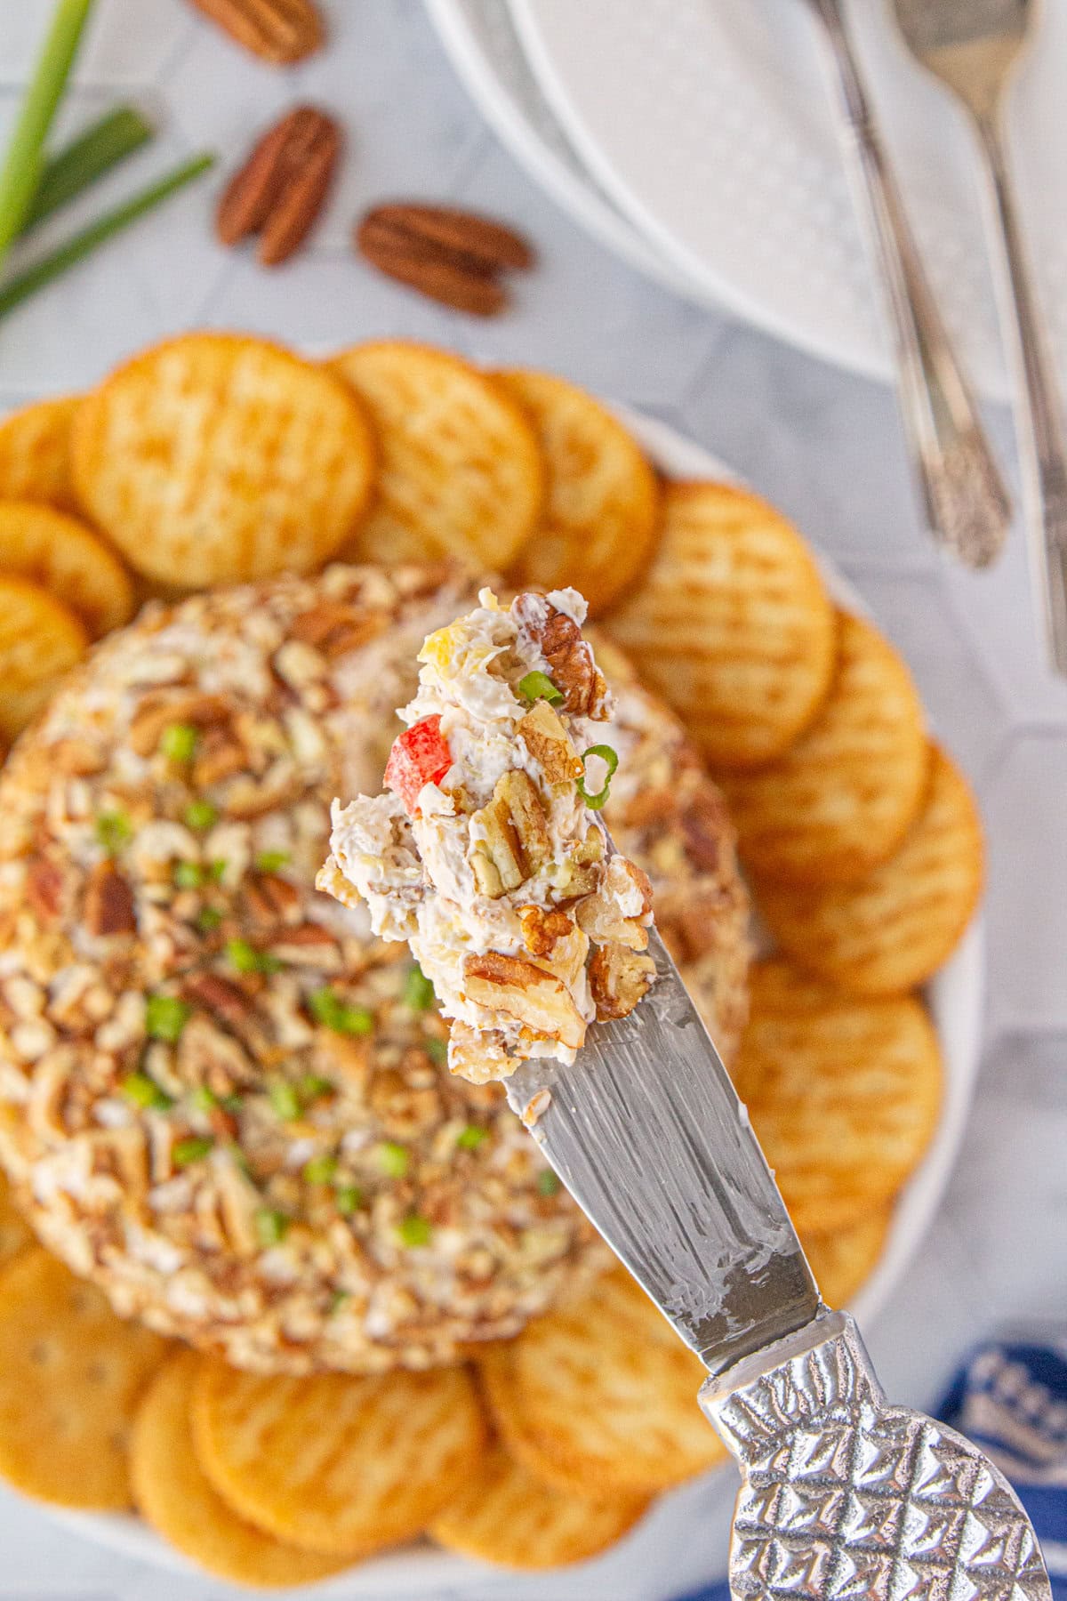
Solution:
M1046 10L1013 131L1067 368L1067 0ZM907 59L886 3L853 13L945 319L976 381L1001 392L969 133ZM512 0L512 14L590 173L688 277L817 355L889 371L801 0Z

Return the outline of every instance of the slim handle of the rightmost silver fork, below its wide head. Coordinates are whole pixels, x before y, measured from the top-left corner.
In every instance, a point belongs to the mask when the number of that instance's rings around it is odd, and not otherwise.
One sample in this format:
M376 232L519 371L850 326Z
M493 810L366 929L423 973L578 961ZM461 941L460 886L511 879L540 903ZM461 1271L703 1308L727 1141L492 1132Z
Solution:
M1033 583L1041 597L1048 653L1067 676L1067 429L1045 320L1019 226L1005 147L1003 114L976 117L997 227L1003 242L1001 323L1017 375L1017 435Z

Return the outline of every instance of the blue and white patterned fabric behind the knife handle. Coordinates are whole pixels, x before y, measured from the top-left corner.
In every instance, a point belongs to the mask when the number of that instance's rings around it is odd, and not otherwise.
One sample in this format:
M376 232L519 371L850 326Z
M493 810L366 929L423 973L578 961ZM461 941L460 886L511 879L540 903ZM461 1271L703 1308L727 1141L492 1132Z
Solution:
M979 1345L937 1417L987 1452L1033 1519L1056 1601L1067 1601L1067 1332ZM729 1601L721 1580L681 1601Z

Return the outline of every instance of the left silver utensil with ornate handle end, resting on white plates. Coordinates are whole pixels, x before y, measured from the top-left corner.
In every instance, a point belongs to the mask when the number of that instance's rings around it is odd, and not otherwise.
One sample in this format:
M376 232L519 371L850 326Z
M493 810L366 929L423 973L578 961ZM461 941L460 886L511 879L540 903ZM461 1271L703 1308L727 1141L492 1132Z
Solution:
M926 282L853 53L841 0L808 0L822 24L837 85L845 154L861 221L885 283L897 357L901 416L926 520L969 567L1000 552L1011 504Z

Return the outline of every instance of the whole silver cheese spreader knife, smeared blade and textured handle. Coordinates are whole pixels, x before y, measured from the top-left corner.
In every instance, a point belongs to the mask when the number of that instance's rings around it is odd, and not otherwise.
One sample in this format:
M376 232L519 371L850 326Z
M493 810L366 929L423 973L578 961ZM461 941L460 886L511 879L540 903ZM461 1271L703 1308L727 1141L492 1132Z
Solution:
M590 1028L573 1066L525 1061L506 1089L520 1116L539 1109L552 1167L709 1370L699 1404L742 1473L733 1595L1051 1601L1005 1476L955 1430L889 1406L854 1321L822 1305L654 930L649 954L637 1010Z

